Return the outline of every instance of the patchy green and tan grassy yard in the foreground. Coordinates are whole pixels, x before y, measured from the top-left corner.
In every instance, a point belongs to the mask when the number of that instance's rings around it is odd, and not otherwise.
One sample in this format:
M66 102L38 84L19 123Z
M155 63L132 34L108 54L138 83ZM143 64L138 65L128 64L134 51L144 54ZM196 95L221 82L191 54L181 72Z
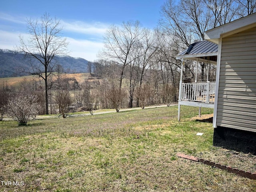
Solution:
M198 108L182 106L182 122L177 111L51 118L20 127L2 121L0 181L23 185L0 183L0 192L256 191L256 180L176 156L183 152L256 172L255 156L212 146L212 124L191 119Z

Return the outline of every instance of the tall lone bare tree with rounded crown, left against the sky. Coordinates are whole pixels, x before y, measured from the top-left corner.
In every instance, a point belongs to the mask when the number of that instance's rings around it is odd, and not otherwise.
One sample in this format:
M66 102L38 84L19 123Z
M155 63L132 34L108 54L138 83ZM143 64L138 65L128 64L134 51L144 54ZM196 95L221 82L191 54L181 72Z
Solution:
M57 55L68 54L66 38L61 37L62 27L60 20L51 18L49 14L42 15L41 20L27 20L28 40L20 36L20 45L16 46L18 52L31 58L31 68L22 68L22 72L38 75L45 83L45 104L46 114L48 114L48 77L54 71L54 58Z

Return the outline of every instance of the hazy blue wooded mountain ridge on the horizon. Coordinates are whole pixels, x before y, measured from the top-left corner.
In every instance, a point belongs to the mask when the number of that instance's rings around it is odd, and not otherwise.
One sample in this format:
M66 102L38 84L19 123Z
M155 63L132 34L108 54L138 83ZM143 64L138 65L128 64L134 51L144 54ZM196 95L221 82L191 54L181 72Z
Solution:
M11 50L0 49L0 78L25 75L17 72L17 68L19 68L20 66L28 68L30 67L28 63L28 59L24 58L24 54L16 54L14 51ZM70 56L57 56L56 64L59 64L62 67L62 72L88 72L88 61L82 58L74 58Z

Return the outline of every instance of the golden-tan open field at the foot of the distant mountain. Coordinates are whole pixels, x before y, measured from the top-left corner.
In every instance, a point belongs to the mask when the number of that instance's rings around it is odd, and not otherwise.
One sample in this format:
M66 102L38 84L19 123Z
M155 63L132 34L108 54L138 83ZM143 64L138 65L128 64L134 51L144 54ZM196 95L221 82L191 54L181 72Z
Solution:
M67 78L76 78L78 82L83 82L84 80L96 79L95 77L92 77L90 73L62 74L62 76L66 76ZM7 83L8 86L13 86L17 88L24 79L28 81L33 79L37 81L42 80L42 78L39 78L38 76L33 76L33 75L22 76L22 77L8 77L8 78L0 78L0 85L2 85L3 83L4 84Z

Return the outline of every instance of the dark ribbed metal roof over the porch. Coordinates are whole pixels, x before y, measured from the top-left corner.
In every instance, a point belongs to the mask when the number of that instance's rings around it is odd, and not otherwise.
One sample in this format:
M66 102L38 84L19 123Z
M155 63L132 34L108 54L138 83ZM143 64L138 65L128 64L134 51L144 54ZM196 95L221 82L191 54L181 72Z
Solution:
M192 43L186 50L176 56L176 59L189 59L200 62L217 63L218 45L210 41Z

